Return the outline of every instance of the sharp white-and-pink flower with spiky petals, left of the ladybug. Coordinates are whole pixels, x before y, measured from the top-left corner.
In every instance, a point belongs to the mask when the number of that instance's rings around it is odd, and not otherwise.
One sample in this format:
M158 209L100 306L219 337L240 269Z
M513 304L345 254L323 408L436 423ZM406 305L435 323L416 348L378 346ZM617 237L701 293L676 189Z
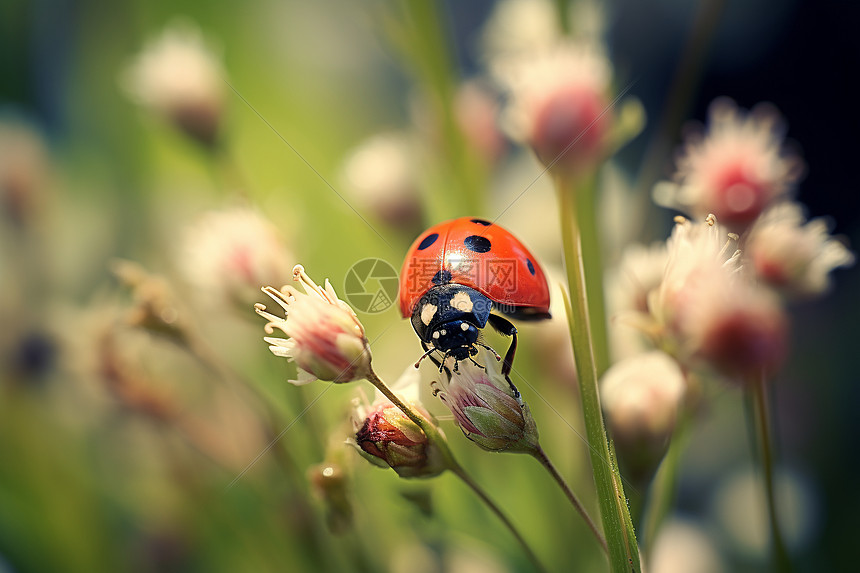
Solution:
M284 310L284 318L266 312L260 303L255 305L257 314L269 321L265 326L267 334L277 328L290 337L264 337L270 344L269 350L296 363L299 373L295 384L317 379L342 383L366 378L370 372L370 347L364 326L353 310L337 297L328 280L323 289L305 274L301 265L293 268L293 278L302 283L307 294L289 285L280 291L263 287L263 292Z

